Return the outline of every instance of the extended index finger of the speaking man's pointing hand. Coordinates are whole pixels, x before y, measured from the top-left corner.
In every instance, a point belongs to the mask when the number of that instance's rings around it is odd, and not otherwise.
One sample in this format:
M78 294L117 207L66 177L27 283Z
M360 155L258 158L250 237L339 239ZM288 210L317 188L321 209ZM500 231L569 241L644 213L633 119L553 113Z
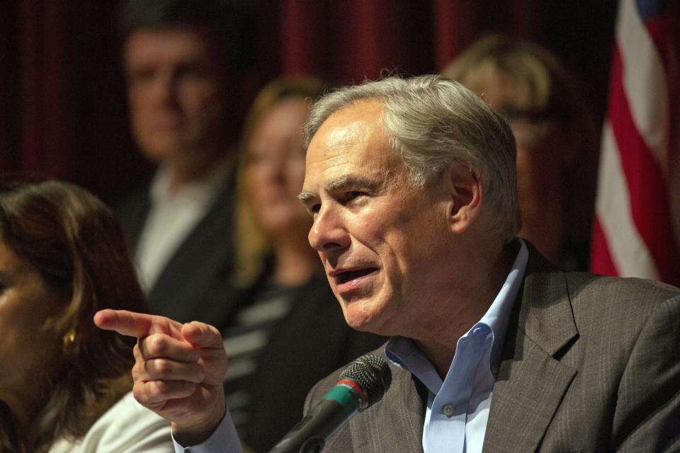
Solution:
M94 315L94 323L98 328L116 331L125 336L140 338L152 333L165 333L174 338L181 338L182 325L163 316L105 309L97 311Z

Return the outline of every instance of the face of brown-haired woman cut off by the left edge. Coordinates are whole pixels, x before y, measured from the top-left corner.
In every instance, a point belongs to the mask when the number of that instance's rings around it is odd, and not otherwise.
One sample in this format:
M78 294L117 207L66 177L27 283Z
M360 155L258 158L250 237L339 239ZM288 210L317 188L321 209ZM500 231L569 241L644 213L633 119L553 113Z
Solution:
M58 345L45 321L55 314L59 297L40 273L0 240L0 397L38 394L36 377L50 369ZM35 395L33 396L35 398Z

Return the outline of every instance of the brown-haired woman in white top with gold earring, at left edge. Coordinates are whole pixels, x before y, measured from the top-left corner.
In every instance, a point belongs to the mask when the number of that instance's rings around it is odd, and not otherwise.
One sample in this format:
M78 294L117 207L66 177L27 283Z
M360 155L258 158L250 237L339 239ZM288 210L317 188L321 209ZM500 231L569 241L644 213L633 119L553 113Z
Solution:
M132 398L132 346L104 308L145 311L123 234L93 195L0 180L0 452L172 452Z

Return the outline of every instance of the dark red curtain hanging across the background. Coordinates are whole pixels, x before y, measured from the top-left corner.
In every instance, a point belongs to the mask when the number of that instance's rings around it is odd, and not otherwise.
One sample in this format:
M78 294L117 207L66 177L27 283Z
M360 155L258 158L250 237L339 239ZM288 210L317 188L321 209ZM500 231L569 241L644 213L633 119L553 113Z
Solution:
M431 73L480 35L536 40L604 113L616 1L253 0L253 96L280 74L335 84ZM0 1L0 171L72 180L115 201L149 166L130 139L115 2Z

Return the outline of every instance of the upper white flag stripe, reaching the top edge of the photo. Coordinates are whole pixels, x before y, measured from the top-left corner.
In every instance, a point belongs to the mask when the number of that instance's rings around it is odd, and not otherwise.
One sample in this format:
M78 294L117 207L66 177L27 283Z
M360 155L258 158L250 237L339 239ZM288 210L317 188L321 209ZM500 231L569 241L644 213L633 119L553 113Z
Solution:
M668 171L669 105L666 73L656 45L642 22L635 0L621 0L616 40L630 114L662 173Z

